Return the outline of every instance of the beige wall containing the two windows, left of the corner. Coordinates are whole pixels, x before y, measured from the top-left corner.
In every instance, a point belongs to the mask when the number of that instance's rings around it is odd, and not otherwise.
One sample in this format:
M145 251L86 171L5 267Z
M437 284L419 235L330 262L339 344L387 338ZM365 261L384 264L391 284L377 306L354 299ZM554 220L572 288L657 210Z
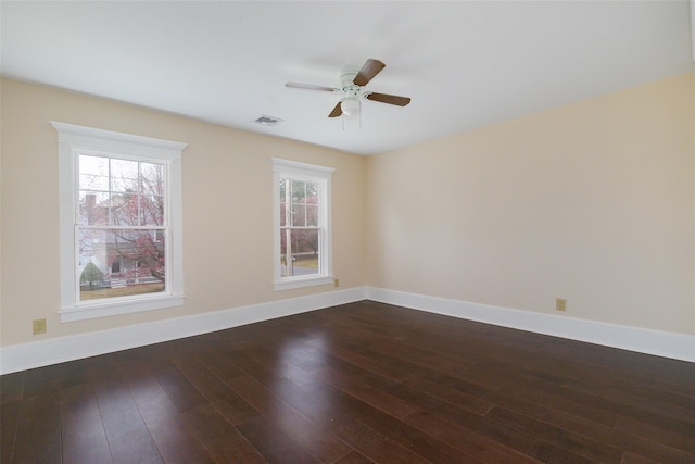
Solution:
M366 160L138 106L3 79L1 86L1 346L333 291L273 290L270 158L328 165L333 174L333 271L340 289L364 278ZM61 323L58 135L49 121L184 141L181 308ZM48 334L31 335L46 318Z

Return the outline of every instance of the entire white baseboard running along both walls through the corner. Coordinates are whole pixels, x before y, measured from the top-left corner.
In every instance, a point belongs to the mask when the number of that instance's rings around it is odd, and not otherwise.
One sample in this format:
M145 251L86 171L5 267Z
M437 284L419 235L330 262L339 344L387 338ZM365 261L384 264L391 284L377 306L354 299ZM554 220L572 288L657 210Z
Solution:
M695 362L695 336L691 335L513 310L383 288L356 287L4 347L0 348L0 374L207 334L365 299L536 334Z

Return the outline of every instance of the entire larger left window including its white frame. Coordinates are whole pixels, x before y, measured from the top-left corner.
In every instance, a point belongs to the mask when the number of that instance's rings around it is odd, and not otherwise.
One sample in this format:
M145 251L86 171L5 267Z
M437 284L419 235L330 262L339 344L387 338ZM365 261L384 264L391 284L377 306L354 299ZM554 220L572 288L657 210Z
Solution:
M51 124L59 133L61 321L181 305L186 143Z

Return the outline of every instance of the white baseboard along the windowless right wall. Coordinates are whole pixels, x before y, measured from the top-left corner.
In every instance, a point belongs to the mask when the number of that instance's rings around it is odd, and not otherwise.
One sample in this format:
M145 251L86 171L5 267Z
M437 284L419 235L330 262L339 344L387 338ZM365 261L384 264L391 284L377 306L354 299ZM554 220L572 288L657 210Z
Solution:
M695 336L367 287L367 299L553 337L695 362Z

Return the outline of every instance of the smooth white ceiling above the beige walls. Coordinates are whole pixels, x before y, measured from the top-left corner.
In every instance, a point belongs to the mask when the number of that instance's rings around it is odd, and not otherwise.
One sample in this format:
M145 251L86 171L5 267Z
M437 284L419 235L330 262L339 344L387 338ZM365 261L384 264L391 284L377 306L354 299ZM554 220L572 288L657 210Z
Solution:
M12 2L3 76L372 154L693 70L687 1ZM387 67L357 121L340 73ZM276 126L253 121L285 120Z

